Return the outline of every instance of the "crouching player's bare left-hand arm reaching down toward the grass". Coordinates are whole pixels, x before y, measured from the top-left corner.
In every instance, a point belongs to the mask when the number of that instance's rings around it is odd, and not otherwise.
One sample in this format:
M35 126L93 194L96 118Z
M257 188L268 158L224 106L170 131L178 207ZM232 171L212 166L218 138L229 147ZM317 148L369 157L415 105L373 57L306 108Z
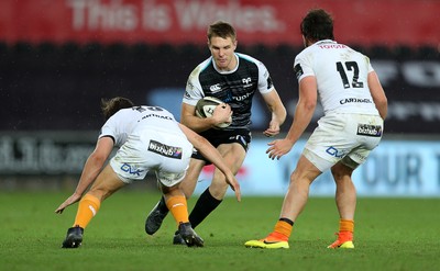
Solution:
M64 208L81 199L84 192L98 177L113 146L114 143L111 137L101 137L98 139L94 153L87 158L75 192L55 210L55 213L63 213Z

